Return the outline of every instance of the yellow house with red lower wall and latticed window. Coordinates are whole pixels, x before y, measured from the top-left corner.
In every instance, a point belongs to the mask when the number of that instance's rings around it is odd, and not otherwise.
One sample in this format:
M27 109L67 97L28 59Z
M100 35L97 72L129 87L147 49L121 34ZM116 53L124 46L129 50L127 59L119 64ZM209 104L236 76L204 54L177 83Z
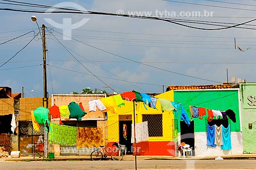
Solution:
M173 101L174 92L168 91L156 95L155 98ZM165 110L162 112L159 102L156 103L156 109L144 105L143 102L135 102L134 104L124 100L124 106L118 107L117 113L108 111L108 143L119 141L120 144L125 145L126 154L134 153L134 144L131 143L132 124L147 122L148 141L141 141L136 144L136 154L175 156L173 111Z

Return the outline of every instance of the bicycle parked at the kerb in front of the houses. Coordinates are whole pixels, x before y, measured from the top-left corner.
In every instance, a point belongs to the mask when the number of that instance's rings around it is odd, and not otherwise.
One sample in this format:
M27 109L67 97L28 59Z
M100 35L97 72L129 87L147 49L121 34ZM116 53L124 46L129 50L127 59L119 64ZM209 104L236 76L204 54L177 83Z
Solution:
M123 153L121 150L121 145L118 142L115 142L112 144L112 147L116 146L115 148L112 148L111 152L111 159L112 160L122 160L123 159ZM91 153L91 160L93 161L99 161L101 159L106 159L108 158L109 152L107 151L108 148L105 148L105 146L100 146L100 148L96 148L92 153Z

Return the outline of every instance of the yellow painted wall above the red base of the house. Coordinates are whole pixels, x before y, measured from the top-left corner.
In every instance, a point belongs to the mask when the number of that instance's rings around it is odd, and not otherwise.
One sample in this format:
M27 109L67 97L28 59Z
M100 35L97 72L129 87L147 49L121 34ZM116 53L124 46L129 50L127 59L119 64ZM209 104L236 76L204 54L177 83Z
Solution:
M168 101L174 101L174 91L170 90L162 94L156 95L155 98L162 98ZM108 141L115 142L119 141L119 115L131 114L132 121L134 123L134 109L133 102L124 101L124 106L118 107L117 113L111 113L108 111ZM153 109L145 105L143 102L135 102L135 114L136 120L135 123L142 122L142 114L162 114L163 118L163 136L162 137L149 137L149 141L172 141L173 140L173 111L164 111L161 110L161 104L158 101L156 108Z

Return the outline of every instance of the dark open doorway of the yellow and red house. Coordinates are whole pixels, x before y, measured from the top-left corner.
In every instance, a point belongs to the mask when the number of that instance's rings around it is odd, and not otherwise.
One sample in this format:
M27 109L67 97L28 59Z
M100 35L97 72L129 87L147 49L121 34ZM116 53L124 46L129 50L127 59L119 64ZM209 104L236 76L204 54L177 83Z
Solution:
M133 154L132 120L119 120L119 143L125 145L126 154Z

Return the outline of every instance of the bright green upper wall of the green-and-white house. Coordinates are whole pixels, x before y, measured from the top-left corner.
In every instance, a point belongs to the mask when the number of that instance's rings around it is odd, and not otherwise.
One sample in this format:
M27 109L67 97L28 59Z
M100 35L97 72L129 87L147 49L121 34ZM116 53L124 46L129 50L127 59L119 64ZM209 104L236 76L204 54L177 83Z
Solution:
M190 118L189 106L203 107L205 109L214 110L227 110L231 109L236 113L237 122L233 123L230 120L231 131L240 132L240 116L239 116L239 90L238 89L226 89L226 90L179 90L174 91L174 101L182 104L183 108ZM179 110L178 122L180 121L181 110ZM206 132L206 116L201 120L198 117L193 118L195 123L195 132ZM180 124L179 132L180 132Z

